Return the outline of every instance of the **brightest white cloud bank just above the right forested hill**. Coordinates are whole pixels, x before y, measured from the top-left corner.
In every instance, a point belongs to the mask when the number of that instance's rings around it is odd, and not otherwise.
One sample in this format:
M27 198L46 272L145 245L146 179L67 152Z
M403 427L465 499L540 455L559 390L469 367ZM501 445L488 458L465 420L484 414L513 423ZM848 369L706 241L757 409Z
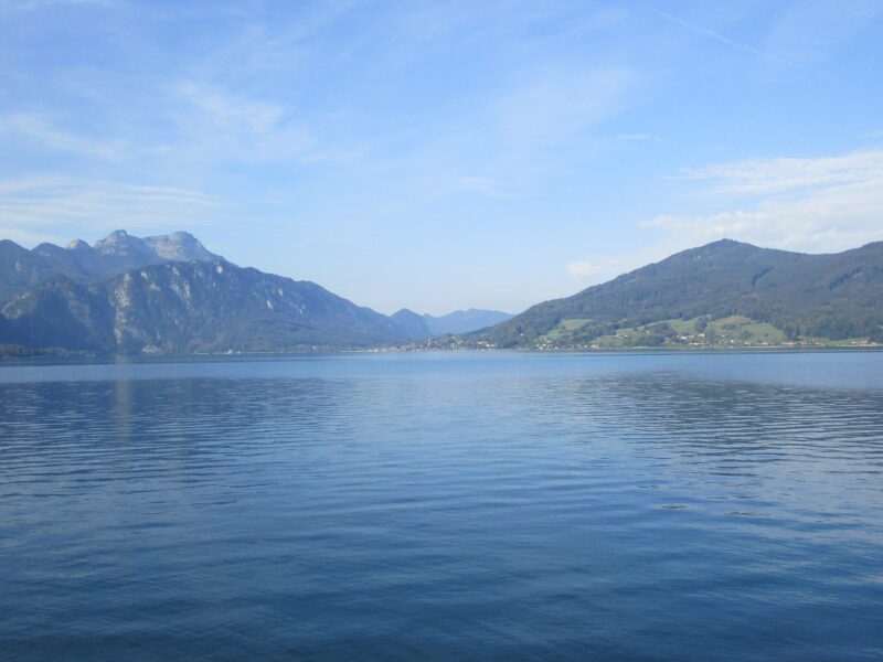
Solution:
M724 209L643 223L682 246L731 237L831 252L883 239L883 150L723 163L683 179L691 193Z

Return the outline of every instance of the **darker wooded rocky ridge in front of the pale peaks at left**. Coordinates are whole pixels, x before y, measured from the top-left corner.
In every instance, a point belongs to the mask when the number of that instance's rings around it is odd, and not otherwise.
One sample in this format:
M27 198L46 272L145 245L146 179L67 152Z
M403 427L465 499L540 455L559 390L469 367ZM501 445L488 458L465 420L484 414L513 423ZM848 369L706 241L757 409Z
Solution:
M98 352L280 352L405 340L390 318L313 282L220 259L150 265L89 285L55 277L1 312L0 342Z

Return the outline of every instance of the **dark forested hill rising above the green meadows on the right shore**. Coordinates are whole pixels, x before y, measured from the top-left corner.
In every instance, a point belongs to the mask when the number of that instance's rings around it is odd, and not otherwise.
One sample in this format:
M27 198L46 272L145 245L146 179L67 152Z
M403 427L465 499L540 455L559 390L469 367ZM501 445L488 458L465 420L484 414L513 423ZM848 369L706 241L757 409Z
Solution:
M674 337L672 321L701 318L704 328L731 316L768 323L791 340L883 340L883 242L807 255L724 239L539 303L467 340L576 344L663 321L668 328L649 335Z

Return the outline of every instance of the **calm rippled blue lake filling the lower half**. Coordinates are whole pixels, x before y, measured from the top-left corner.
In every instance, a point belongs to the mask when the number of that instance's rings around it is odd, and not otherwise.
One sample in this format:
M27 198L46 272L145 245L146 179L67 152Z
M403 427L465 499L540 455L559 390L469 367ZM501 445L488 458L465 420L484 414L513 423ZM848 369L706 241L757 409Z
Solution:
M0 660L880 660L883 353L0 367Z

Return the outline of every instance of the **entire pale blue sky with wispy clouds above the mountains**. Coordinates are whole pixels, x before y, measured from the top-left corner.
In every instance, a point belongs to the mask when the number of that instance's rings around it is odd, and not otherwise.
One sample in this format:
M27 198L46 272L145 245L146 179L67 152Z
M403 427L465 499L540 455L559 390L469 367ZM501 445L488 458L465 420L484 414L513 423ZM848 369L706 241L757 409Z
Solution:
M0 0L0 236L189 229L383 312L883 239L883 2Z

